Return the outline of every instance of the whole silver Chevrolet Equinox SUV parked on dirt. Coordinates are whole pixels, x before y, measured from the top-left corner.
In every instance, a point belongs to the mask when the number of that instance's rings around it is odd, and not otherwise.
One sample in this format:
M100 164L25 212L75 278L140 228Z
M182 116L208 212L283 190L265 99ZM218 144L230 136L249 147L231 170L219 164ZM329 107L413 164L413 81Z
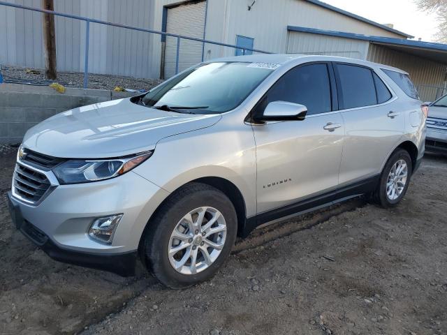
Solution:
M424 154L425 119L397 68L214 60L31 128L10 210L56 260L131 275L140 258L161 283L185 288L258 225L359 195L400 202Z

